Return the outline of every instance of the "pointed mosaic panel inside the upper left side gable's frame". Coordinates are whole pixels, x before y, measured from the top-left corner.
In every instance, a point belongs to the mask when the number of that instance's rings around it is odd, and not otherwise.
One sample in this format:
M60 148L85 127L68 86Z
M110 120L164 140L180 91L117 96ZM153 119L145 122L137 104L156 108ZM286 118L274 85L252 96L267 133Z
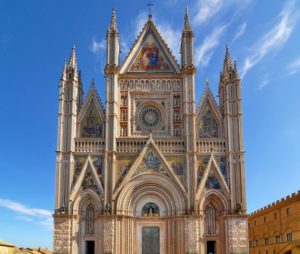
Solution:
M94 102L91 101L87 113L81 123L81 137L99 138L103 135L103 124Z

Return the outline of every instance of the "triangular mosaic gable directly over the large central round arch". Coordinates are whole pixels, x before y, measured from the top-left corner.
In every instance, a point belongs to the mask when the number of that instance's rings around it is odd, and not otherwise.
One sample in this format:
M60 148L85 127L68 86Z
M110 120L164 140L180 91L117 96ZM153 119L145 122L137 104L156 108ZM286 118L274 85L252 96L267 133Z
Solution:
M157 173L170 177L175 185L177 185L183 191L183 193L186 193L186 190L184 189L180 180L174 174L174 171L164 158L163 154L159 151L159 148L155 144L152 137L149 138L147 144L128 170L123 181L116 186L114 195L118 195L124 185L126 185L126 183L128 183L132 178L143 173Z

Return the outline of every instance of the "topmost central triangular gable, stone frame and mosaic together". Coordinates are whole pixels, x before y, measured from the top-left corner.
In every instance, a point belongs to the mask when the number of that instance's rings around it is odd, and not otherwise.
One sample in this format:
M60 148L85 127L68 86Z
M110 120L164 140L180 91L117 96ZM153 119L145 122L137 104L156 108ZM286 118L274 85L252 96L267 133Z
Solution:
M126 58L121 73L179 73L179 66L151 19Z

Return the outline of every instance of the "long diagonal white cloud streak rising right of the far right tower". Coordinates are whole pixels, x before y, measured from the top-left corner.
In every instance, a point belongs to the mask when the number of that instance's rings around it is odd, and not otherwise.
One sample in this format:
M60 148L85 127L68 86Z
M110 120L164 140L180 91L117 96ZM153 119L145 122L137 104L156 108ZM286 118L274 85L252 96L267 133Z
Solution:
M260 60L262 60L272 50L282 46L289 39L294 29L293 2L289 2L279 15L279 22L273 26L253 47L253 53L246 57L244 66L241 71L241 78L253 68Z

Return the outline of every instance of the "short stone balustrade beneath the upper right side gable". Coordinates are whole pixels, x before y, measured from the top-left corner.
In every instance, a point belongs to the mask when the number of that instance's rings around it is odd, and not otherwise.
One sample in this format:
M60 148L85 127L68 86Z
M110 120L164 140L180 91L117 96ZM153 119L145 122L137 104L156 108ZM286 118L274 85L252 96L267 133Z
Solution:
M210 153L212 150L215 153L226 152L225 139L201 139L196 143L198 153Z

